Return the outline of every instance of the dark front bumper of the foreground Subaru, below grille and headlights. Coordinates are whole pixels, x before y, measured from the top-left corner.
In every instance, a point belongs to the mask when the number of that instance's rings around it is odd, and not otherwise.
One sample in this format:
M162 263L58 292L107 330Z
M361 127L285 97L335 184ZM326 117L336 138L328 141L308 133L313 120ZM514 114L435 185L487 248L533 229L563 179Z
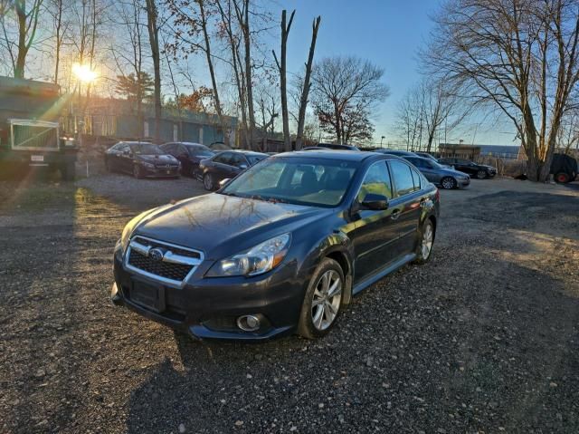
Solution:
M114 260L111 301L194 338L264 341L293 333L297 327L306 288L304 280L296 278L294 265L252 278L203 278L200 266L183 287L175 288L127 270L119 256ZM158 304L136 300L139 292L151 288ZM237 326L236 319L248 314L261 320L255 332Z

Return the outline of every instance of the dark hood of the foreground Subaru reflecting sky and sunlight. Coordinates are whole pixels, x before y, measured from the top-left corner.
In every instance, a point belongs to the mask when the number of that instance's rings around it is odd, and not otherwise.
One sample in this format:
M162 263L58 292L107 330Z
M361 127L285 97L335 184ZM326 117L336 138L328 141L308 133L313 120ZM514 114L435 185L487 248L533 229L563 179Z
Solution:
M324 218L332 209L235 198L218 193L159 207L134 235L201 250L207 259L231 256L272 236Z

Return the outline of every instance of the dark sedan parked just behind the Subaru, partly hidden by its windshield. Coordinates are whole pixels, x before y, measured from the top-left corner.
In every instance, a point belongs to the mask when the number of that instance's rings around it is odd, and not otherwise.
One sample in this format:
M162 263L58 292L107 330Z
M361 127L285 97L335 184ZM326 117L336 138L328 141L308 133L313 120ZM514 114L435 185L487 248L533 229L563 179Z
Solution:
M253 166L268 154L249 150L224 150L199 163L204 188L214 190L223 179L235 178L243 170Z

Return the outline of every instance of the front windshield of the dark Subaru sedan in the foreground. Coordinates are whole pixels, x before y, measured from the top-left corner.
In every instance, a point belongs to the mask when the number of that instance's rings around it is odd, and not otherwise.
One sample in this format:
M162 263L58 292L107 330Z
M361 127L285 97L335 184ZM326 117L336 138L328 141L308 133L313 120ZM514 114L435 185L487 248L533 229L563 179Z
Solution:
M356 172L356 161L264 159L234 178L220 193L314 207L336 207Z

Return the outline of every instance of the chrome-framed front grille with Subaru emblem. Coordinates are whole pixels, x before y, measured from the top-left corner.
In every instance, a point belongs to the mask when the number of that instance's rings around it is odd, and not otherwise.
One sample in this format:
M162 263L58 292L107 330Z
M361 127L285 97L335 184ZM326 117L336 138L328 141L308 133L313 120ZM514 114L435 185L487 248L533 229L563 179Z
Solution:
M155 250L153 253L157 253L157 256L150 255L152 250ZM161 258L159 251L163 254ZM164 285L182 287L187 276L195 271L203 259L203 253L198 250L147 236L135 236L128 244L125 266L128 270L146 275Z

